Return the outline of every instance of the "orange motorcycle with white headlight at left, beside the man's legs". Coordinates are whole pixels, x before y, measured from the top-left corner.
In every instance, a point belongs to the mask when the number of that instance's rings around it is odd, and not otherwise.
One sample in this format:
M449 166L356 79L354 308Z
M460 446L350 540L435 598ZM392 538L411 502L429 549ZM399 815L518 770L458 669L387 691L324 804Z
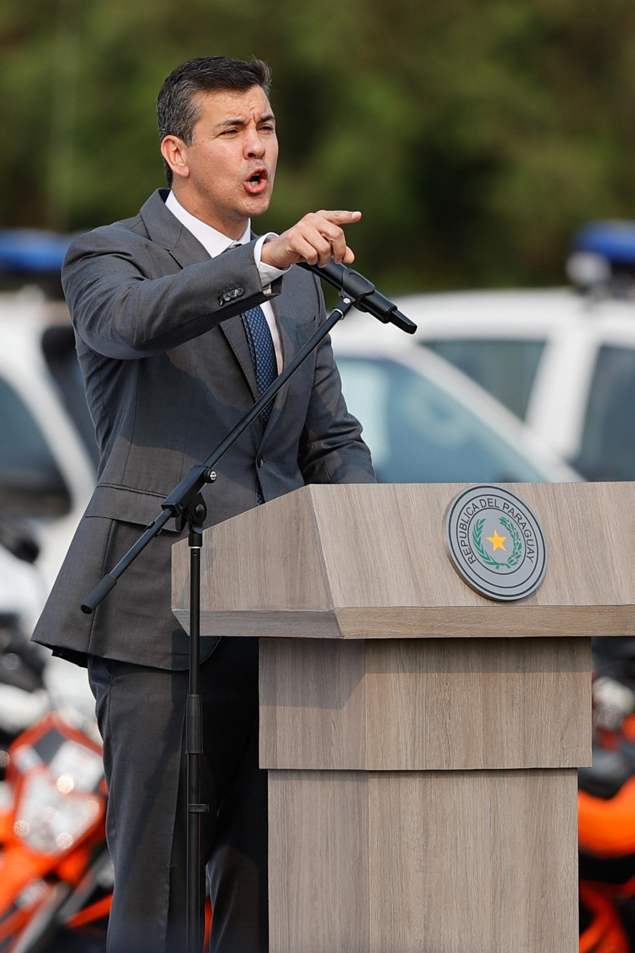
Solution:
M8 760L0 953L101 953L112 897L101 748L50 713L13 741Z

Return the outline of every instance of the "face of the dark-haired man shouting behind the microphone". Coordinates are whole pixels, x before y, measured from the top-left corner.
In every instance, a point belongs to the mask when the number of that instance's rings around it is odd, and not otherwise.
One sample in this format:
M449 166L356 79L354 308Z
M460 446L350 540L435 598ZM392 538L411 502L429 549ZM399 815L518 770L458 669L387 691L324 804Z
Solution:
M184 165L174 168L172 188L190 213L239 238L248 218L268 210L278 161L275 118L260 86L197 93L195 102L201 118L192 145L182 147Z

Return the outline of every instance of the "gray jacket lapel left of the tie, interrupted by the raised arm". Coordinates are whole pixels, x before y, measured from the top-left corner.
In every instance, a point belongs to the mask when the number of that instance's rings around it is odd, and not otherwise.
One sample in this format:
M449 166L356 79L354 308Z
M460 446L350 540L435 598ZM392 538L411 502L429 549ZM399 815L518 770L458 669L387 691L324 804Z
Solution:
M157 189L155 193L150 195L141 210L141 217L148 229L150 238L167 249L181 268L209 261L209 255L200 241L166 208L165 199L167 196L167 189ZM218 329L225 335L228 345L245 375L251 395L256 400L258 398L256 372L249 354L247 335L241 315L236 314L234 317L228 318L227 321L222 321L218 325Z

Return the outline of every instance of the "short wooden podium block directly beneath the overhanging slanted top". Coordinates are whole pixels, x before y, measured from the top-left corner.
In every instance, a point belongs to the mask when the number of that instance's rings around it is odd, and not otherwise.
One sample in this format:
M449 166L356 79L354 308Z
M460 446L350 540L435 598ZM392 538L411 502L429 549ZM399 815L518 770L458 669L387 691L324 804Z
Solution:
M262 641L261 767L582 767L590 667L588 639Z

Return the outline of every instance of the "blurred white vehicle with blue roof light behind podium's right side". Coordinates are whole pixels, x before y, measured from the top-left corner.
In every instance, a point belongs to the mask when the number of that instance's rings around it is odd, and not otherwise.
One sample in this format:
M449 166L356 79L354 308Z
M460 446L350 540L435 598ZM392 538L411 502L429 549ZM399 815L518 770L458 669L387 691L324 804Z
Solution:
M587 479L635 479L635 225L573 242L578 291L419 294L416 340L501 400Z

